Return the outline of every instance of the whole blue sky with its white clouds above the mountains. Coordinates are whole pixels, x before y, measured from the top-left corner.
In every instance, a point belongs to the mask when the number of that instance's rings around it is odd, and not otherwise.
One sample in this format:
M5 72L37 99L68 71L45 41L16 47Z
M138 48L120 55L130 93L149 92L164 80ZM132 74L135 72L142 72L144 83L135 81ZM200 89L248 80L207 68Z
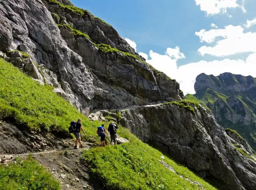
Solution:
M72 3L111 24L123 38L134 41L136 51L144 53L148 63L176 78L185 93L194 93L195 77L202 72L256 77L255 65L251 63L255 59L256 64L255 0L160 0L157 3L72 0ZM211 27L212 23L218 28ZM205 31L200 32L202 29Z

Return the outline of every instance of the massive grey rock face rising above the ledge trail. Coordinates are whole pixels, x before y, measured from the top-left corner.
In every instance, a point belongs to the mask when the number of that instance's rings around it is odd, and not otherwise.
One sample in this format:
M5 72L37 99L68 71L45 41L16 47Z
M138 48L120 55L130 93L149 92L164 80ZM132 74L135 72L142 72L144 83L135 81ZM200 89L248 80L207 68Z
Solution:
M62 88L58 93L82 113L183 98L179 84L146 64L112 26L60 3L0 0L0 51L10 54L8 61L41 84ZM95 45L101 43L118 51L101 51ZM22 53L10 50L27 53L35 65L24 67ZM38 73L36 65L44 69Z

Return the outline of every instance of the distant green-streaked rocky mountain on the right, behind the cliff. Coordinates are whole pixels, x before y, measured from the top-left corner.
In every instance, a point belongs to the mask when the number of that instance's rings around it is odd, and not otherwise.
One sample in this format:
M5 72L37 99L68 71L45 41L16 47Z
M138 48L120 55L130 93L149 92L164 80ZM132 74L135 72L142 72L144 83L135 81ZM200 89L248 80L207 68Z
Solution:
M217 77L196 77L194 95L214 113L217 123L236 130L256 150L256 79L252 76L223 73Z

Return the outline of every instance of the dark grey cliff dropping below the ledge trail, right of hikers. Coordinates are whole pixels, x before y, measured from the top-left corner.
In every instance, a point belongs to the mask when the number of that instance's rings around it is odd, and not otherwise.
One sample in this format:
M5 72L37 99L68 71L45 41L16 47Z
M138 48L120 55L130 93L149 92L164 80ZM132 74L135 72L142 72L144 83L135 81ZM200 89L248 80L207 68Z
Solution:
M255 189L252 151L227 135L210 111L194 109L195 115L176 105L138 106L120 110L120 124L223 189Z

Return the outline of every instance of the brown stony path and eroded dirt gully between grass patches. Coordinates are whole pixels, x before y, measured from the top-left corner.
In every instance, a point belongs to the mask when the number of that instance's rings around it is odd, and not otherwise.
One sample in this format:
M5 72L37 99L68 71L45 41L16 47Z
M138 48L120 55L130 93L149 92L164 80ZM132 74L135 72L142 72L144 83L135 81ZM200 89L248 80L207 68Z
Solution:
M89 167L86 162L80 159L82 151L88 150L93 144L83 142L83 146L82 149L72 147L13 155L1 154L0 162L8 164L15 157L26 158L30 154L34 160L60 181L62 190L101 190L98 181L89 175Z

